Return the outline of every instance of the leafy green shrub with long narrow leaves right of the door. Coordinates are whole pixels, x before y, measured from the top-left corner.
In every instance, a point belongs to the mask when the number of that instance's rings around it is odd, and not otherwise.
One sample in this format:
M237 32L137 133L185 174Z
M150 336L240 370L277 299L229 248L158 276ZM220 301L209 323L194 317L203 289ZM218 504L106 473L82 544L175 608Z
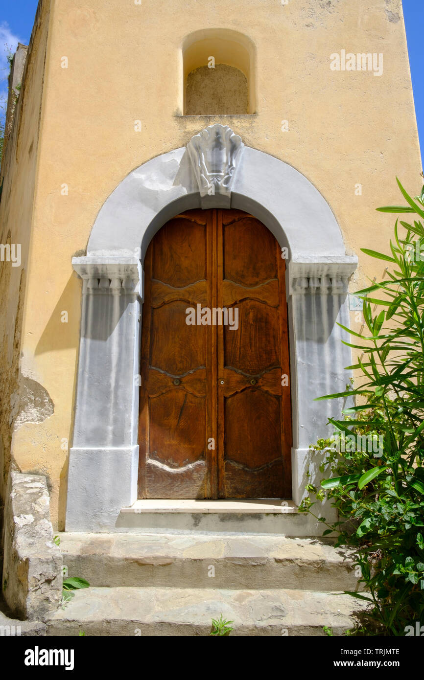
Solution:
M408 205L378 210L409 213L411 223L397 218L390 254L362 249L387 262L387 274L358 293L365 335L345 328L354 338L346 344L362 357L348 368L362 378L321 397L353 396L355 405L330 419L333 437L311 446L326 452L321 471L331 477L308 490L338 509L340 521L325 533L338 532L338 545L357 551L360 590L370 593L368 631L399 636L424 624L424 188L414 200L397 183ZM381 447L364 450L351 441L356 435ZM314 514L313 505L307 498L302 509Z

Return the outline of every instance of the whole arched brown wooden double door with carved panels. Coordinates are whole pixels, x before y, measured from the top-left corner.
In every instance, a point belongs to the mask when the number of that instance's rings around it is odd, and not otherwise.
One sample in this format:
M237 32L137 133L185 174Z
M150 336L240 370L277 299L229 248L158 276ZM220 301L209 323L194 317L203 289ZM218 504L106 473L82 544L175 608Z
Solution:
M284 260L272 233L242 211L187 211L150 242L144 284L139 497L291 498Z

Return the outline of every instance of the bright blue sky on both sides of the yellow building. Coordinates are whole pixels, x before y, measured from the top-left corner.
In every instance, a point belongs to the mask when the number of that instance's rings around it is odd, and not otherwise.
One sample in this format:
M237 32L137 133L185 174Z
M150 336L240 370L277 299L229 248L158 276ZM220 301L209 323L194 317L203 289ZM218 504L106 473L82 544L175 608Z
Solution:
M37 4L37 0L0 0L0 98L7 93L5 45L14 52L18 41L25 45L29 43ZM403 7L421 156L424 158L424 0L403 0Z

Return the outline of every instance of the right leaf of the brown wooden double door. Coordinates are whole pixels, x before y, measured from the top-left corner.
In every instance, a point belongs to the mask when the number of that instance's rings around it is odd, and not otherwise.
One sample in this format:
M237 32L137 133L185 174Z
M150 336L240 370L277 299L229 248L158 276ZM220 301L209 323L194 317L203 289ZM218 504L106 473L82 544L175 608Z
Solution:
M287 326L284 262L270 231L240 211L218 226L218 306L237 306L238 330L218 327L218 485L220 498L284 498L289 451L282 405L281 328ZM280 271L279 271L280 270ZM233 292L231 297L230 291ZM288 390L288 388L285 388Z

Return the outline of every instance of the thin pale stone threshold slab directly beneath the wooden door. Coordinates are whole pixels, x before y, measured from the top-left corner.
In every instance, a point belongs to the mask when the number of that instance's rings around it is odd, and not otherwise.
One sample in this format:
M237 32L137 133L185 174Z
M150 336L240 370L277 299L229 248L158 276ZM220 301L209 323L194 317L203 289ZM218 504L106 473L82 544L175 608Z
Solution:
M139 498L131 507L124 507L121 513L246 513L265 514L298 513L293 500L259 498L248 500L190 500Z

